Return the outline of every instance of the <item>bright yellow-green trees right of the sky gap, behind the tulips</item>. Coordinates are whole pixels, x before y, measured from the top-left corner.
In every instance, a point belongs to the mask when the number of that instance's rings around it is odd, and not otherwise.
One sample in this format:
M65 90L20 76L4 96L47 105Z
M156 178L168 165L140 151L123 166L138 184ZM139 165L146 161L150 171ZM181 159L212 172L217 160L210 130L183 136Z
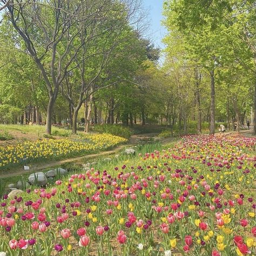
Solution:
M165 69L171 76L179 73L184 120L196 112L201 131L207 110L210 133L215 130L216 113L239 130L253 106L256 133L255 1L167 0L164 15L169 31L164 39Z

